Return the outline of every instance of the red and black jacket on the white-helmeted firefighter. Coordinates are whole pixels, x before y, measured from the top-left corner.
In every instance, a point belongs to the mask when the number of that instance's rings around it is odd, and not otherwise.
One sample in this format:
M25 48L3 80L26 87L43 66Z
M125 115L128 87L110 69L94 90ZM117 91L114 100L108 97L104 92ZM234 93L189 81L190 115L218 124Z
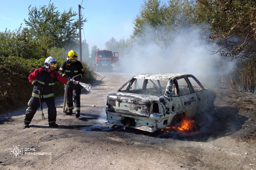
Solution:
M39 84L42 87L44 87L44 90L43 90L44 98L53 97L54 95L53 86L56 80L63 84L68 84L68 85L72 84L70 80L59 75L57 71L52 71L48 73L44 68L35 69L35 71L28 76L28 80L34 85L32 96L37 98L39 98L39 95L38 95L38 90L36 90L35 88L39 86Z

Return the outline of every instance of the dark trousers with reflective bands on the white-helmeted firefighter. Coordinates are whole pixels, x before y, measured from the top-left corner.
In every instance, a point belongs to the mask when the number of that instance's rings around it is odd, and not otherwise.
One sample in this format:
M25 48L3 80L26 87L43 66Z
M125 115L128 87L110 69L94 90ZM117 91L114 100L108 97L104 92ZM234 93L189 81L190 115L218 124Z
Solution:
M55 101L54 97L47 97L47 98L42 98L42 104L43 102L46 103L48 106L48 122L49 124L55 123L56 122L56 117L57 117L57 111L55 107ZM31 97L30 101L28 102L28 109L26 110L26 115L24 117L24 123L25 124L30 124L32 121L32 118L35 115L35 112L37 109L40 107L40 101L38 97Z

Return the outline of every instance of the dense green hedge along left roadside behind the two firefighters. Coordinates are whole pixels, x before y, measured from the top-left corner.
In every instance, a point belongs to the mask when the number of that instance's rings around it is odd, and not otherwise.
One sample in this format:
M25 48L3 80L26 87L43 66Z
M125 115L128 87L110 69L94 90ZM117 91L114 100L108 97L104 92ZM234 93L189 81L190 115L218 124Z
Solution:
M26 106L32 91L33 85L29 82L28 76L35 69L44 65L45 58L25 59L22 57L0 57L0 113L9 112ZM64 60L64 59L63 59ZM57 71L62 61L58 60ZM86 63L83 63L85 76L82 82L89 83L94 79L93 71ZM54 96L63 95L63 84L56 83Z

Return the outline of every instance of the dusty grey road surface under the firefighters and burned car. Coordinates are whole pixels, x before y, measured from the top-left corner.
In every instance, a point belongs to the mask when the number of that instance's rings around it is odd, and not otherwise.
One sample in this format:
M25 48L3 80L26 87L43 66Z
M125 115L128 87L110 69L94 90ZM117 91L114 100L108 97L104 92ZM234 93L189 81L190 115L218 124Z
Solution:
M255 144L239 141L234 135L245 132L242 126L250 117L222 102L223 97L217 95L216 112L209 113L207 119L211 121L198 122L201 128L197 132L152 134L130 128L122 130L119 126L111 128L104 112L106 96L134 75L100 73L105 78L95 85L95 90L83 91L81 95L80 118L65 115L63 97L56 99L58 128L48 126L45 104L46 120L41 120L38 110L26 129L22 127L26 108L0 115L0 169L255 169ZM98 80L101 77L97 75ZM239 117L239 121L219 124L224 120L222 116L226 119L228 114Z

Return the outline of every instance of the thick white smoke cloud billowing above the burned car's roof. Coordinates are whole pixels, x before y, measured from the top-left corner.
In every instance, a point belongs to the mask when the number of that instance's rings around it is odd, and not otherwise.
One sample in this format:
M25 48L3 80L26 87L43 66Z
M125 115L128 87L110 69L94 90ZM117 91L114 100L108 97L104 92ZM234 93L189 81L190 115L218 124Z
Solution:
M152 37L152 29L146 29L146 36ZM120 58L124 72L135 75L143 73L187 73L192 74L205 87L212 87L219 81L221 70L227 73L233 67L219 55L211 55L216 51L200 36L200 29L183 29L169 35L173 40L143 42L136 38L130 44L125 55ZM149 38L145 38L149 39ZM165 46L164 44L169 44ZM223 67L224 66L224 67Z

